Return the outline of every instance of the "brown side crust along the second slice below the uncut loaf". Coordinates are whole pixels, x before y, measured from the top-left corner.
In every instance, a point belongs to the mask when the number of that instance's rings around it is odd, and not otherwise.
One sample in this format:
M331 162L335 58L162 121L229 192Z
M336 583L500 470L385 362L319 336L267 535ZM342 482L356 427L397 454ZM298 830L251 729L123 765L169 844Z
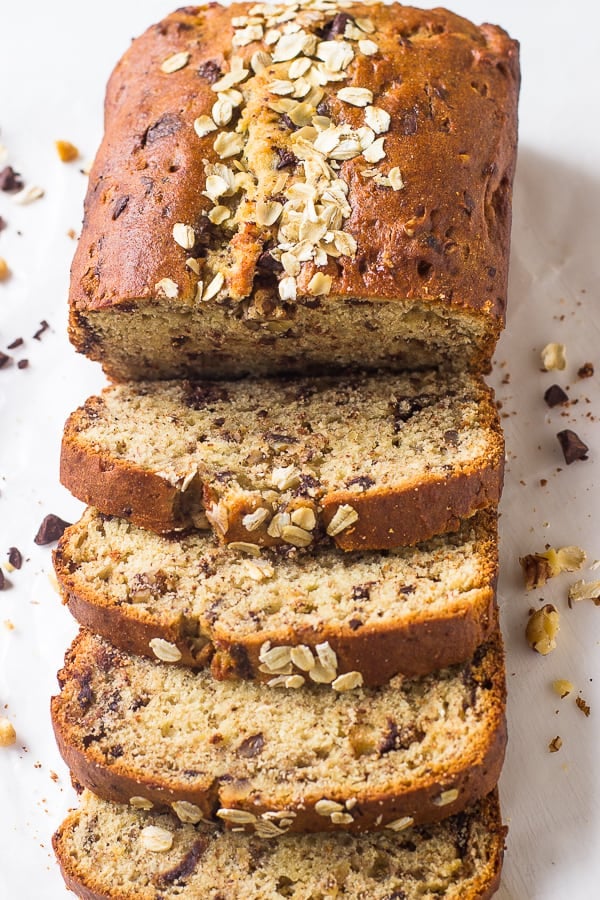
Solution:
M218 618L211 621L201 617L198 624L194 610L190 609L192 598L187 605L182 597L179 608L163 609L160 597L143 607L135 602L125 603L118 597L107 597L82 577L73 560L70 545L77 542L79 529L85 528L81 523L72 526L61 538L54 551L54 568L63 601L77 621L129 653L155 658L150 642L160 638L177 647L181 665L194 668L210 665L216 678L267 681L272 676L260 671L260 652L265 642L271 646L304 644L314 652L316 645L327 641L337 655L338 675L358 671L366 685L376 686L398 674L425 675L468 660L494 634L498 623L495 517L492 513L481 513L474 526L485 529L486 536L476 546L485 560L484 572L477 584L469 586L466 596L449 597L447 608L441 614L438 609L433 611L423 606L411 618L399 611L391 621L369 622L360 628L352 620L330 623L327 619L322 620L320 628L311 627L299 616L297 623L293 620L293 624L279 630L268 625L248 629L241 639L228 633ZM157 540L161 540L162 550L162 539ZM233 551L223 548L222 563L229 553ZM318 564L318 550L314 556ZM216 554L211 559L218 566L221 557ZM160 568L160 561L157 565ZM276 559L274 565L277 566ZM352 565L350 557L349 570ZM233 586L232 591L235 591ZM402 604L402 600L398 596L397 603Z

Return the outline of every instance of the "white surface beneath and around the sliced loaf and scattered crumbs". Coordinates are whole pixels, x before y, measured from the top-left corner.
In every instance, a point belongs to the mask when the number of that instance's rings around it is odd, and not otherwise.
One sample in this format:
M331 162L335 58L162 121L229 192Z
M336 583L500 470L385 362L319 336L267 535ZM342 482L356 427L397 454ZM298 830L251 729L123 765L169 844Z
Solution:
M0 283L0 350L22 336L14 356L30 360L28 369L0 370L0 560L9 546L26 557L0 593L0 713L5 707L18 733L16 747L0 749L0 897L7 900L67 897L50 836L74 795L48 703L75 627L49 583L50 549L36 547L33 537L46 513L74 520L80 511L58 483L60 434L66 415L103 378L65 336L74 251L66 233L79 228L86 186L79 170L101 137L110 70L129 39L171 8L165 0L0 4L0 142L6 162L46 191L25 207L0 193L8 221L0 256L13 271ZM522 48L509 327L494 375L498 385L510 375L498 388L509 453L500 601L510 729L501 782L510 833L498 897L591 900L600 896L600 608L567 608L567 586L579 575L527 596L518 557L548 542L579 544L590 563L600 558L599 376L576 377L586 361L600 374L600 6L455 0L452 8L478 23L498 22ZM57 138L75 143L83 160L59 162ZM51 330L32 340L44 318ZM565 372L540 372L548 341L566 344ZM567 413L543 402L554 381L579 399ZM564 465L555 434L565 427L589 444L589 461ZM600 578L600 571L583 577ZM527 611L540 597L561 613L558 648L546 658L523 637ZM560 701L553 694L554 678L574 682L591 706L589 718L574 695ZM550 754L556 735L563 746Z

